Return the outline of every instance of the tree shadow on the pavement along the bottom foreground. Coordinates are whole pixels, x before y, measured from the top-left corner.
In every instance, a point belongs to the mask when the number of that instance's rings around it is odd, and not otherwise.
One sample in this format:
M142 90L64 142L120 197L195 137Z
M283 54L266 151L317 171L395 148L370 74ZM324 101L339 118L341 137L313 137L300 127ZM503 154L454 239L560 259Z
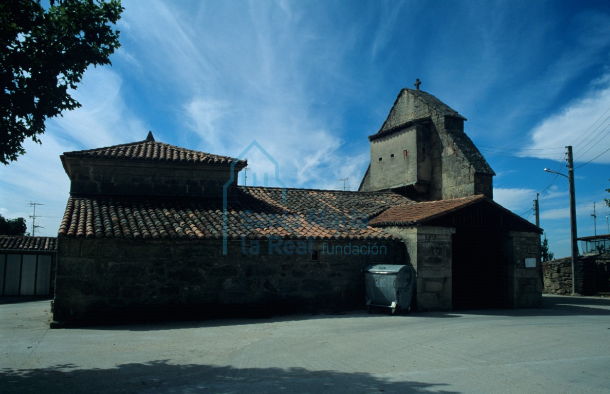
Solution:
M445 393L447 384L397 382L367 373L310 371L304 368L234 368L213 365L174 365L168 360L122 364L114 368L79 369L56 365L41 369L4 368L3 393Z

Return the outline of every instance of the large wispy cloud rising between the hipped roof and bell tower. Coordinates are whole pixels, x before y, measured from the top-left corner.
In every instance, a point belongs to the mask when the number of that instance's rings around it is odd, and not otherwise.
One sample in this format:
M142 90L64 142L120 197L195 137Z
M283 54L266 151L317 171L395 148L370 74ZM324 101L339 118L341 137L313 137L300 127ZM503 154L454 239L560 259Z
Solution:
M184 131L171 138L189 135L183 141L188 147L226 155L237 155L256 140L281 164L287 185L339 188L339 178L361 177L357 172L364 172L367 160L361 153L343 159L345 130L329 127L332 111L342 104L328 100L334 93L325 97L320 92L333 86L333 78L342 78L346 49L339 37L320 36L326 27L319 19L305 21L299 7L279 5L253 2L229 9L206 4L196 16L199 24L190 30L184 27L190 15L170 15L159 2L141 13L136 7L126 19L139 41L160 44L159 51L145 54L148 62L164 75L172 70L170 79L192 81L179 93L173 91L171 100L181 105L168 110ZM216 20L228 12L239 26ZM146 28L163 24L171 27L163 35ZM174 41L176 47L168 44ZM186 55L190 51L193 56ZM366 148L367 141L362 144ZM269 170L264 155L254 152L248 159L253 171Z

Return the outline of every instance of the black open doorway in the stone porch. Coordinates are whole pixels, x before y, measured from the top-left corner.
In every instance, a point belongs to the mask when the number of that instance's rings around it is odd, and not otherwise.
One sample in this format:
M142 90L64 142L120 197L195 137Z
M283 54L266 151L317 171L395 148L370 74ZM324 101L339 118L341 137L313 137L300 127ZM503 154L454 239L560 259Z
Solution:
M451 241L453 310L508 308L501 233L490 228L458 227Z

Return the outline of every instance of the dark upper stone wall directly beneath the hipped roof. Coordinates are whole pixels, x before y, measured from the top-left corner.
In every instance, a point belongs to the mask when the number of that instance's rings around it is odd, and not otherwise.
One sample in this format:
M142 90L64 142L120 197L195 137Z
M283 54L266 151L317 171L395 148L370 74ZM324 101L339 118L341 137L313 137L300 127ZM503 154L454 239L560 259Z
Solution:
M231 178L230 165L65 158L70 192L77 194L218 197ZM234 169L234 179L237 172ZM228 192L234 192L235 185Z

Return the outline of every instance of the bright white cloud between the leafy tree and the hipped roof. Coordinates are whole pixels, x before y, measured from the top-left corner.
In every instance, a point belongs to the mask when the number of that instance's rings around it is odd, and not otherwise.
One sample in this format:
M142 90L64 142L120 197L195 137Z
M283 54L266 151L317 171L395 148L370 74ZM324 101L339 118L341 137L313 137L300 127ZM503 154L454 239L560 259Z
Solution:
M70 191L60 155L138 141L146 136L143 122L124 102L121 85L121 77L109 68L90 68L85 72L82 85L72 93L82 107L49 120L40 138L42 145L26 141L26 155L0 168L0 211L7 217L27 218L32 211L26 202L44 204L37 209L37 215L41 216L39 224L45 228L37 234L56 236ZM9 205L2 206L4 203ZM31 223L27 224L31 231Z

